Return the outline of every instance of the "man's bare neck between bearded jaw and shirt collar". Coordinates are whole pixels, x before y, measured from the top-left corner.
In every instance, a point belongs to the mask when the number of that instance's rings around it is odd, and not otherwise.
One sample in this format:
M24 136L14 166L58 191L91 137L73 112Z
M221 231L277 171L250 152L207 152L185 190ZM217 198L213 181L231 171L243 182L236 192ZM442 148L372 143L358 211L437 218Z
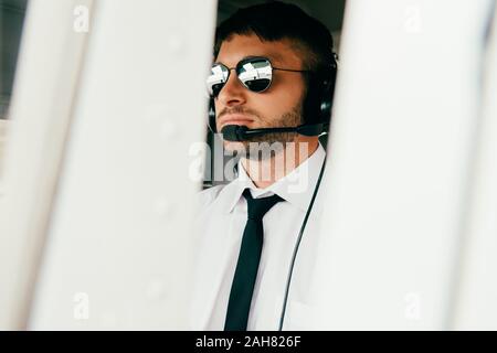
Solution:
M242 165L252 182L257 188L265 189L300 165L317 150L318 146L317 137L304 138L287 143L282 151L264 160L243 158Z

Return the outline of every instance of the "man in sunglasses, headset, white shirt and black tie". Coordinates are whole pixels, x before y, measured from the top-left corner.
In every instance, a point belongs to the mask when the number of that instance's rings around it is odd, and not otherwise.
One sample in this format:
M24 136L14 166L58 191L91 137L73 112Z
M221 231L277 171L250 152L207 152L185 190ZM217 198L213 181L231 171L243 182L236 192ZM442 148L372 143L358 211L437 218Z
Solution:
M318 135L329 122L336 69L331 35L296 6L275 1L221 23L214 56L211 128L242 158L234 181L200 194L193 328L297 328L313 288L320 214L313 204L326 156ZM252 137L241 126L305 129Z

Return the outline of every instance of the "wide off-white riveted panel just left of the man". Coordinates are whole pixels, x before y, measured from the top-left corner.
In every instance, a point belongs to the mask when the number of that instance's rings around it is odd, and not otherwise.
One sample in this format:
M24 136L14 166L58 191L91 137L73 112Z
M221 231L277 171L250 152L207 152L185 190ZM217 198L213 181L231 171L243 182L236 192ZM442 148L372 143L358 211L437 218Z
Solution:
M101 0L32 329L186 324L215 1Z

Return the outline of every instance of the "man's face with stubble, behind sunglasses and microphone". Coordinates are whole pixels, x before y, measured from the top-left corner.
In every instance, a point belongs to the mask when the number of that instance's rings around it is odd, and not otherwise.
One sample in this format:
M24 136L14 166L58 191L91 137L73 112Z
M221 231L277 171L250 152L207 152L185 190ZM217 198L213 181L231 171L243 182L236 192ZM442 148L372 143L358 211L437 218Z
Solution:
M255 34L233 35L224 41L215 62L235 67L247 56L267 57L274 67L303 69L298 53L289 40L262 42ZM302 124L302 101L305 93L303 74L273 71L273 81L266 90L254 93L237 79L234 69L215 101L216 129L225 125L244 125L248 128L295 127ZM248 151L248 142L290 142L295 132L267 133L250 141L224 141L228 150ZM253 145L253 143L251 143Z

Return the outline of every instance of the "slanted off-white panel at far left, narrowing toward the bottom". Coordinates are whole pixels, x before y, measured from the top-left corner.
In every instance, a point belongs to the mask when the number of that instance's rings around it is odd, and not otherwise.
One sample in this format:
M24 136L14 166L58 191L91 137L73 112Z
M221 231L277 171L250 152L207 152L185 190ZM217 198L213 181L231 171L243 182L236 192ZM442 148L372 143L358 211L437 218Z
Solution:
M28 7L1 161L0 329L27 325L86 41L73 11L91 4Z

